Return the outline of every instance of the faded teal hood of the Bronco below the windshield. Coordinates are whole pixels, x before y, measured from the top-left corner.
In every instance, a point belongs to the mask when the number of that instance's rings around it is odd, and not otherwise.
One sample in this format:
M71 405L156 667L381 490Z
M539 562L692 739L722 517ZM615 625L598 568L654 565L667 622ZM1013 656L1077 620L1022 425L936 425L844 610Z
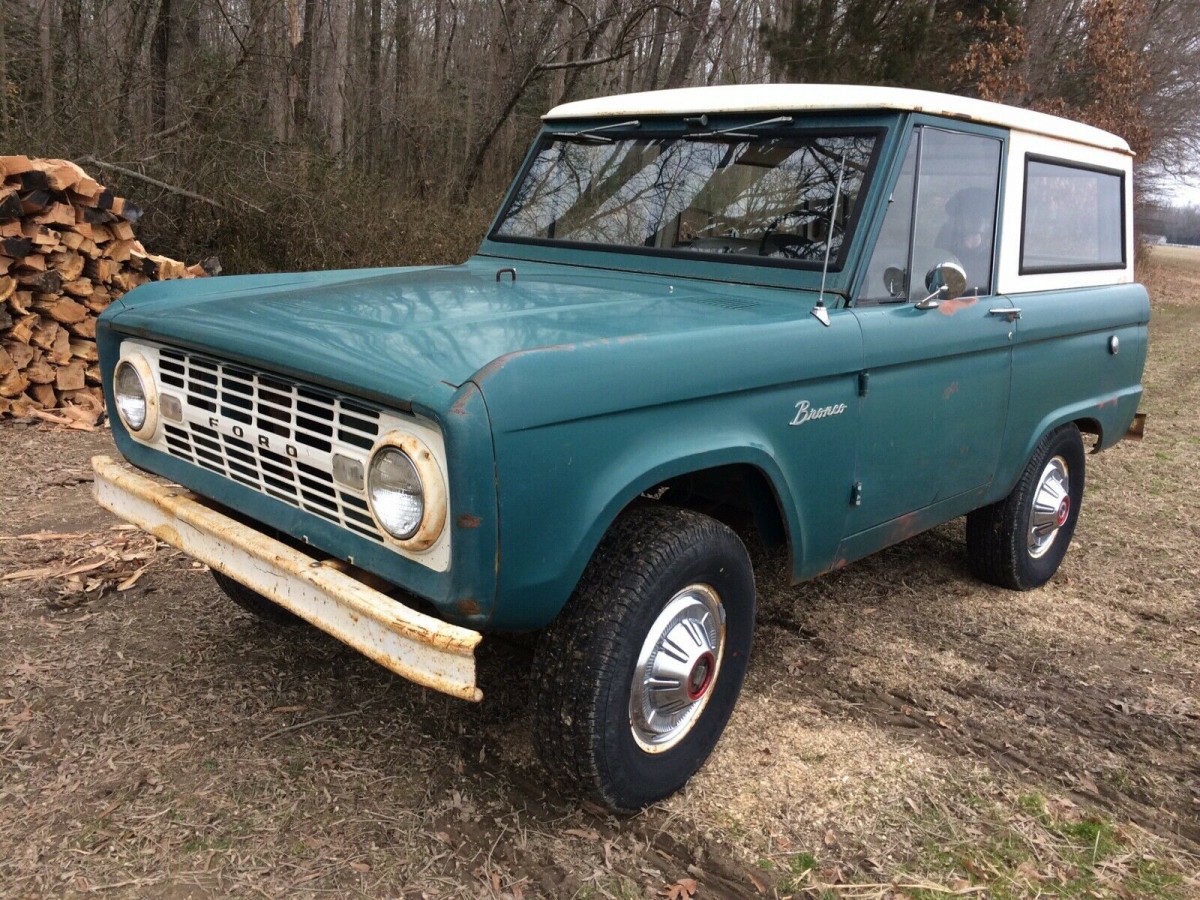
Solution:
M509 354L764 324L803 292L503 259L158 282L107 317L121 332L384 400L445 395Z

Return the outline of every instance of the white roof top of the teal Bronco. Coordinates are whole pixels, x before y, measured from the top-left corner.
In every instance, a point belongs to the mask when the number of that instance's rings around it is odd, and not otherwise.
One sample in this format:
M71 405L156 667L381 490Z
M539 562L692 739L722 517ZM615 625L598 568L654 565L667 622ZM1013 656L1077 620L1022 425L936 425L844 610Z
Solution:
M892 109L944 115L1133 155L1129 144L1116 134L1057 115L953 94L857 84L733 84L619 94L563 103L546 113L542 119L548 121L619 115L799 113L841 109Z

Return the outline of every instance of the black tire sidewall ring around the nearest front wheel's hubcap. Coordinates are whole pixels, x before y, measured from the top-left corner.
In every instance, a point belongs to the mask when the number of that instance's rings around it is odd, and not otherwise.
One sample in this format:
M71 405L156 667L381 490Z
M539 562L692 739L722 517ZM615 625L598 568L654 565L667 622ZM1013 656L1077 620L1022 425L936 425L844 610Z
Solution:
M728 722L754 641L754 574L745 548L732 532L720 541L695 541L656 572L646 594L655 602L632 608L624 640L613 654L608 672L598 673L595 739L599 773L618 809L635 810L678 791L704 763ZM689 584L707 584L725 611L725 650L713 694L691 731L673 748L647 752L634 739L629 702L637 656L646 636L667 602Z

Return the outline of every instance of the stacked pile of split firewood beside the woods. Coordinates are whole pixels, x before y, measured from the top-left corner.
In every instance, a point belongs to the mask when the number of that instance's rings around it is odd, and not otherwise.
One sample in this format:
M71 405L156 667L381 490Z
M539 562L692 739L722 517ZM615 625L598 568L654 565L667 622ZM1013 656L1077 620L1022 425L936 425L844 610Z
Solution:
M148 253L139 215L73 162L0 156L0 419L95 425L96 317L148 281L216 274Z

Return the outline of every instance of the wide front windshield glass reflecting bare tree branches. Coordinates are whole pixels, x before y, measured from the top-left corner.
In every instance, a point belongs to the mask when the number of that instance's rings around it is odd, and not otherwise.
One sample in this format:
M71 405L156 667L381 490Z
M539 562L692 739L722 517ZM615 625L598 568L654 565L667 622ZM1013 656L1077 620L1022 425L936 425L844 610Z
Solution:
M828 247L838 268L875 144L874 133L550 136L493 235L811 268Z

